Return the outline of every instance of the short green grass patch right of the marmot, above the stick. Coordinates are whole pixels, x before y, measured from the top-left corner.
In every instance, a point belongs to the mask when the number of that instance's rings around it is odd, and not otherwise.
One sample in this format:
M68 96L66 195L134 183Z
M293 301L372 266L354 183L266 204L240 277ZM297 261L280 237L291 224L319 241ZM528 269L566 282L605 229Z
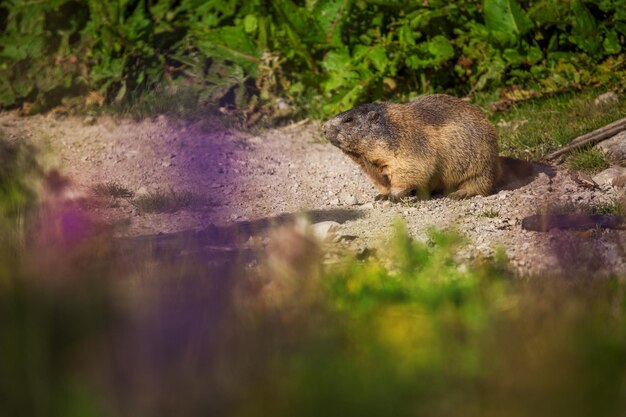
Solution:
M604 91L586 90L555 94L513 105L490 116L500 137L503 154L533 161L572 139L621 119L626 114L623 97L616 104L596 106ZM594 159L599 164L598 158Z

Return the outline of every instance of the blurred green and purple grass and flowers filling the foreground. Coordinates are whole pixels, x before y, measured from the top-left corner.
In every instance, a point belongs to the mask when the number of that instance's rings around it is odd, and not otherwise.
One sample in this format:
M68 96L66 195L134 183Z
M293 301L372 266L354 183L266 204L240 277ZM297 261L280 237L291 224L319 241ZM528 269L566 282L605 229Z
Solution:
M515 279L443 231L324 270L298 232L269 239L227 269L0 240L0 414L623 415L624 280Z

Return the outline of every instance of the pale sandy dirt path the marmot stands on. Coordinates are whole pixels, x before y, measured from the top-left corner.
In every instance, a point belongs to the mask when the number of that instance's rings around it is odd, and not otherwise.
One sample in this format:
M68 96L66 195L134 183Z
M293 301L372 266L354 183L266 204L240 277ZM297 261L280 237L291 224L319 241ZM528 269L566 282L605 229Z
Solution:
M314 122L258 136L217 122L165 117L88 122L0 114L5 135L35 144L42 164L58 168L84 193L97 184L115 182L136 195L174 190L202 197L203 203L173 213L142 213L124 199L94 208L117 225L120 236L308 212L314 222L340 223L335 240L356 253L384 251L394 221L402 219L417 239L427 239L431 226L455 228L470 242L467 257L491 256L501 248L521 272L589 269L609 274L626 269L624 232L521 229L525 216L546 205L593 206L617 198L617 190L589 189L566 170L551 177L538 172L529 184L489 197L374 203L373 186L347 157L321 141Z

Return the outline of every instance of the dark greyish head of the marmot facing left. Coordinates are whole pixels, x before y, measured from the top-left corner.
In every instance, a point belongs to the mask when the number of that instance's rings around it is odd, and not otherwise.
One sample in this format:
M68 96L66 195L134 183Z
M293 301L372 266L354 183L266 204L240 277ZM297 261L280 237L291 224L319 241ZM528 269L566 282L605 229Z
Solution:
M326 138L348 153L388 147L391 137L385 117L385 104L372 103L355 107L328 120L322 126Z

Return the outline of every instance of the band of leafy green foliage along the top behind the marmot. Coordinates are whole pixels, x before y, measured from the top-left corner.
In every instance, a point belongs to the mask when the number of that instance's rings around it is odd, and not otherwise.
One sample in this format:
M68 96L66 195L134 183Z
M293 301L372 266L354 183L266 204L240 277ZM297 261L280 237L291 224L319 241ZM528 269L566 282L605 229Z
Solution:
M329 114L381 98L623 81L620 0L11 0L0 106L48 109L155 87L196 100ZM620 81L622 80L622 81Z

